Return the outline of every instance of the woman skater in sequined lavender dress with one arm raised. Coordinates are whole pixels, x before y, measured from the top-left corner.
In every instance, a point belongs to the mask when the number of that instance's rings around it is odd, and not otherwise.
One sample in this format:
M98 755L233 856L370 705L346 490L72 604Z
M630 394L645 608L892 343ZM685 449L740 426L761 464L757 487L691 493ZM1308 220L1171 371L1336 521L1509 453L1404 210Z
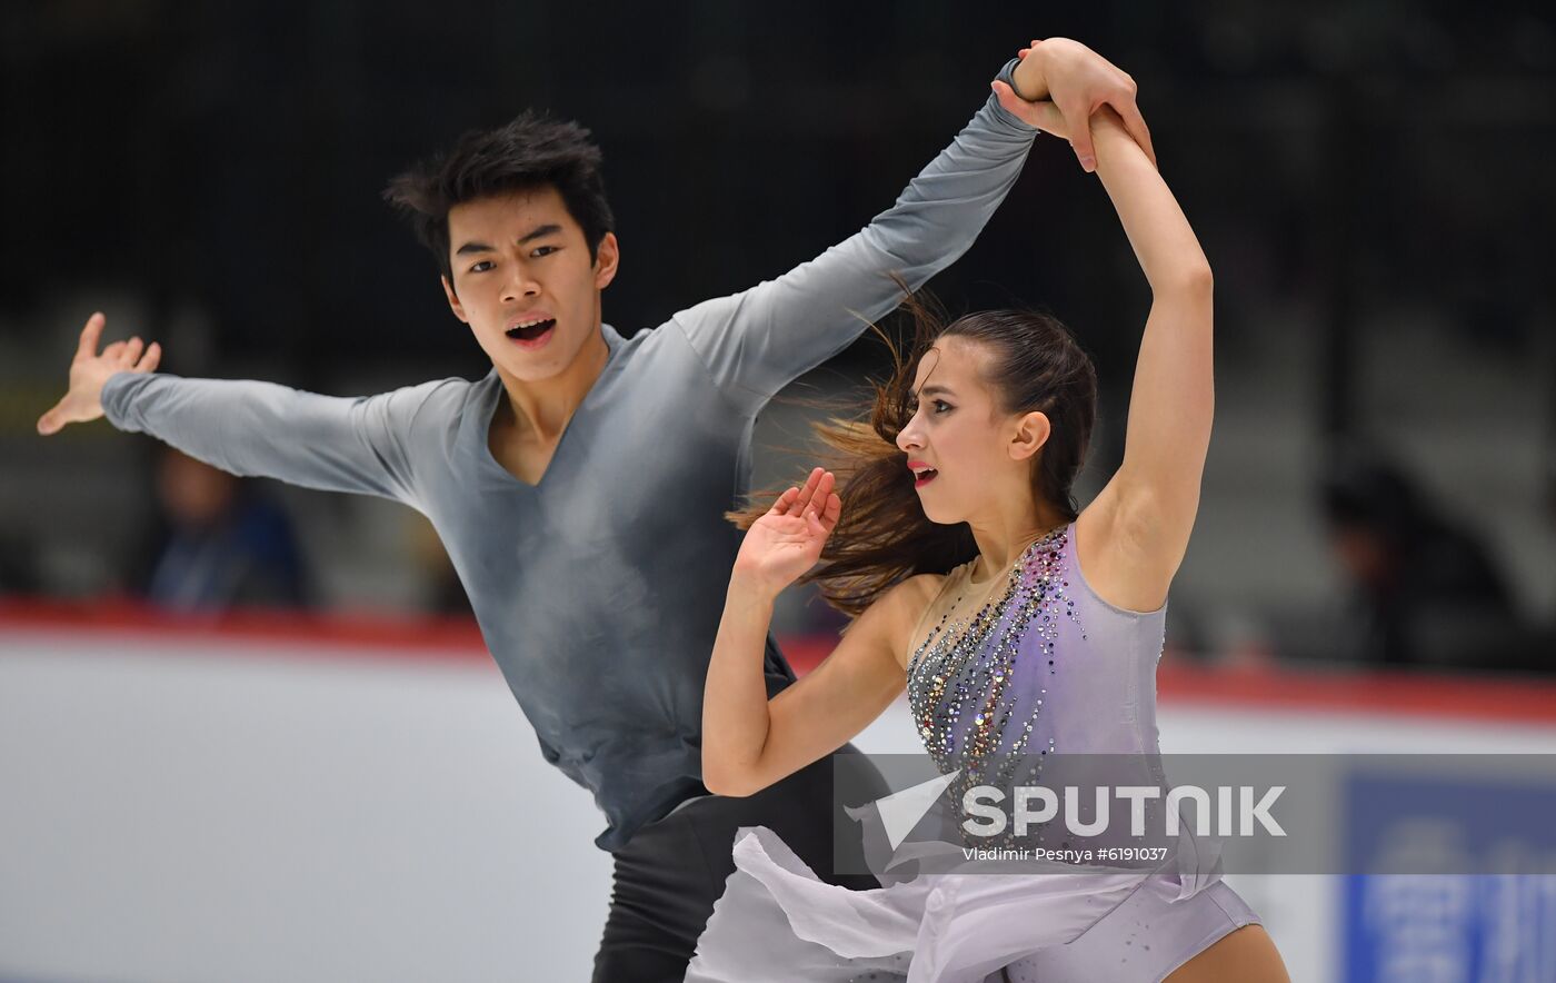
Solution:
M999 97L1069 139L1052 103ZM1167 587L1211 438L1211 268L1119 115L1103 107L1091 123L1095 173L1153 293L1117 474L1075 508L1097 382L1063 326L985 312L937 329L916 308L913 358L878 388L870 427L822 428L850 455L843 483L818 467L747 516L759 514L703 703L710 790L752 795L831 754L904 685L943 773L988 774L1016 754L1159 754ZM856 620L769 701L773 598L818 559L806 578ZM1218 871L927 874L850 893L762 827L741 830L734 854L689 981L1287 980Z

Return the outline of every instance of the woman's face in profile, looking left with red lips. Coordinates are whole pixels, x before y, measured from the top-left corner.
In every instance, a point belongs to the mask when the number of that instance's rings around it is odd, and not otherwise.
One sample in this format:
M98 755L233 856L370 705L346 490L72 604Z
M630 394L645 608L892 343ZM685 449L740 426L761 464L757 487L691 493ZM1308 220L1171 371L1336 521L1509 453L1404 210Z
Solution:
M999 408L982 369L988 351L977 341L941 338L924 352L913 377L913 416L896 436L915 472L918 500L930 522L966 522L1011 488L1030 488L1030 427ZM1047 432L1041 433L1041 439ZM1041 446L1041 439L1038 444Z

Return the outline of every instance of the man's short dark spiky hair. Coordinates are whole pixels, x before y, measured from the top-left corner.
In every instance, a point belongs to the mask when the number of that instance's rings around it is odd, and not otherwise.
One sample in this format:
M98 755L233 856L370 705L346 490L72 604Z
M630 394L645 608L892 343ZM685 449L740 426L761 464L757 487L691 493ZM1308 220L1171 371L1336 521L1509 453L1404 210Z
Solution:
M599 173L601 153L590 131L531 109L496 129L471 129L453 150L389 181L384 199L405 215L437 268L453 284L448 257L448 210L456 204L551 185L573 221L584 229L590 262L615 229Z

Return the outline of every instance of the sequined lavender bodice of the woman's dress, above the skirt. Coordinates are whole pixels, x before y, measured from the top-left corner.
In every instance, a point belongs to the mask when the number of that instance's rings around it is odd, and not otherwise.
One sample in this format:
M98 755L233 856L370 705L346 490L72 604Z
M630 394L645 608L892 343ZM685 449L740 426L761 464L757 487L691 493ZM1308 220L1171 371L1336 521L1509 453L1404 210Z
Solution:
M941 773L1008 780L1024 756L1158 751L1165 604L1131 612L1097 597L1075 561L1075 523L1027 547L980 608L943 604L976 594L969 572L951 572L907 665L909 706Z

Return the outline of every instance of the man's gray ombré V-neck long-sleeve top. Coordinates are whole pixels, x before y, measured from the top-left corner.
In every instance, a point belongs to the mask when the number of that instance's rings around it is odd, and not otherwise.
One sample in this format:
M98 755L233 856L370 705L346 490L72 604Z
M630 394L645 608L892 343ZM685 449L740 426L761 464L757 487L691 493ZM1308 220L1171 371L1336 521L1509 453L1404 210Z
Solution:
M1002 72L1010 79L1015 62ZM366 492L425 513L546 760L590 788L624 844L703 795L702 690L741 533L758 410L972 243L1036 131L990 97L868 227L744 293L624 340L538 484L487 430L493 369L361 399L260 382L117 374L109 421L238 475ZM904 480L907 474L904 472ZM769 640L769 685L794 679Z

